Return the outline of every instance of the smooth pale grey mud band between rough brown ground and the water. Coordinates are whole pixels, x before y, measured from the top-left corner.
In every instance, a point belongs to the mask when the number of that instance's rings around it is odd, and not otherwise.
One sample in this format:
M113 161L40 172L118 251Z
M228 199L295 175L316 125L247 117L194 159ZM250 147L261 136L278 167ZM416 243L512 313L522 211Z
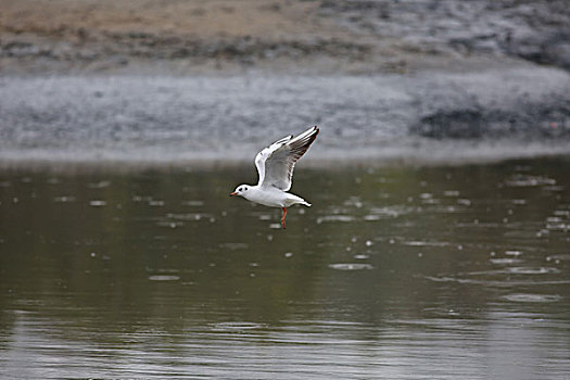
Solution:
M0 160L251 161L321 127L311 160L453 162L570 152L570 76L520 66L379 76L2 78Z

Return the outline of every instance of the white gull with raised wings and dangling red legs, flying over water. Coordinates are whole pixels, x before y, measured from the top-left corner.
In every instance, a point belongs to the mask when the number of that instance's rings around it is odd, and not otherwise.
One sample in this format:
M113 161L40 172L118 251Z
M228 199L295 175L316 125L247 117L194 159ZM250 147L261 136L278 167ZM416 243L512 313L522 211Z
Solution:
M297 203L311 206L311 203L288 191L291 189L295 163L305 154L317 135L318 127L315 126L297 137L283 137L262 150L255 156L255 166L259 175L257 185L240 185L230 197L239 195L265 206L281 207L281 226L287 228L284 220L288 207Z

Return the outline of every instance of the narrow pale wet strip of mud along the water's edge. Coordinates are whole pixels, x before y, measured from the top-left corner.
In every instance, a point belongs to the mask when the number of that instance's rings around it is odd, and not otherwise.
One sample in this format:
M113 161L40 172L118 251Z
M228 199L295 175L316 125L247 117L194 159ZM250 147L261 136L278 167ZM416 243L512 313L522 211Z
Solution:
M303 157L299 166L309 169L333 169L350 167L441 167L441 166L465 166L486 165L509 161L528 160L570 160L570 144L568 143L540 143L534 142L525 145L509 145L509 141L487 141L478 144L463 143L449 147L447 142L435 143L431 149L438 149L436 155L417 154L414 148L398 152L364 152L359 155L342 155L342 152L328 152L324 150L311 152ZM511 142L511 141L510 141ZM426 148L426 147L425 147ZM259 148L261 150L262 148ZM255 173L253 159L255 151L248 151L251 156L243 154L236 156L188 156L179 157L150 157L145 156L105 156L105 157L50 157L23 156L0 154L0 172L43 172L43 173L130 173L145 170L204 170L224 168L251 168Z

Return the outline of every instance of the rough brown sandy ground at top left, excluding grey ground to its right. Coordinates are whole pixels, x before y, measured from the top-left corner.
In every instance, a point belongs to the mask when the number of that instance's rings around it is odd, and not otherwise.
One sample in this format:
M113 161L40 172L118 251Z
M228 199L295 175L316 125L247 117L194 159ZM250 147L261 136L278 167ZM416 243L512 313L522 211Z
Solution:
M308 69L316 61L334 61L329 66L337 69L375 55L370 41L320 14L318 2L3 0L0 5L4 74L236 73L299 64Z

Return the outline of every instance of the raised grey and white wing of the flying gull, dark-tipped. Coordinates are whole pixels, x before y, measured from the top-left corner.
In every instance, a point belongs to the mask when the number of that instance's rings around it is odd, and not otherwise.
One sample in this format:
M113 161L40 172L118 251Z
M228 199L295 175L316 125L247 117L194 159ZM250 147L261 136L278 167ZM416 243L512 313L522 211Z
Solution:
M255 157L259 174L257 185L273 186L283 191L291 189L295 163L315 141L318 131L318 127L309 128L295 138L288 136L261 151Z

